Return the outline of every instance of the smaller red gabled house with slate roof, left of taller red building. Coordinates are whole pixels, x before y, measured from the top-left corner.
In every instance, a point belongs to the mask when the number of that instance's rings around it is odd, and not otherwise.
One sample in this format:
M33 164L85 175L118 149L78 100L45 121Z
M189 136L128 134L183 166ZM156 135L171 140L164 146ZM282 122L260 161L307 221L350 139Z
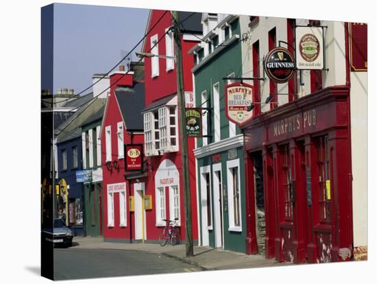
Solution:
M124 145L143 143L144 82L143 64L132 62L127 74L124 67L110 75L110 93L107 97L101 126L101 152L104 165L104 239L137 239L132 196L138 191L136 180L125 179ZM143 180L143 174L138 176ZM140 181L138 180L138 182ZM136 182L137 183L137 182ZM141 204L141 202L139 202ZM137 222L136 222L137 223ZM135 227L136 226L136 227Z

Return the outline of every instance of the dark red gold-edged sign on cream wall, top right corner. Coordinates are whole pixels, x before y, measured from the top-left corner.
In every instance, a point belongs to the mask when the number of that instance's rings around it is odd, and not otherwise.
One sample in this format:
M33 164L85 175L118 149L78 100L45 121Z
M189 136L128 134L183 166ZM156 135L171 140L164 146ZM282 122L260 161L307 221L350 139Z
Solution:
M368 70L368 25L350 23L351 71Z

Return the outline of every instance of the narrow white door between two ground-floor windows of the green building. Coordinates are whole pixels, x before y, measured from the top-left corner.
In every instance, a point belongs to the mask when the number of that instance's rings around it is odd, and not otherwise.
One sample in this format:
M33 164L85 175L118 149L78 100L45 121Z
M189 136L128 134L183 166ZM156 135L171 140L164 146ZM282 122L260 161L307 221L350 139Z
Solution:
M223 196L221 186L221 163L212 165L213 209L215 213L215 248L223 248Z

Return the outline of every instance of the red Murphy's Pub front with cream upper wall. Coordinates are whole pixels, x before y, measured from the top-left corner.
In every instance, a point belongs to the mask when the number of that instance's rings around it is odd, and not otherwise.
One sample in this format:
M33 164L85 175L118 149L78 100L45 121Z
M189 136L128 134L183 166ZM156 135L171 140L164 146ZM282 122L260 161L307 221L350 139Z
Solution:
M366 72L354 73L350 67L350 25L252 18L250 68L255 77L263 74L259 58L279 40L293 49L295 25L326 26L324 40L330 44L324 51L326 69L296 71L284 84L254 81L258 107L254 119L241 127L247 252L258 252L256 222L262 211L267 258L294 263L363 259L367 81ZM366 62L366 54L358 56Z

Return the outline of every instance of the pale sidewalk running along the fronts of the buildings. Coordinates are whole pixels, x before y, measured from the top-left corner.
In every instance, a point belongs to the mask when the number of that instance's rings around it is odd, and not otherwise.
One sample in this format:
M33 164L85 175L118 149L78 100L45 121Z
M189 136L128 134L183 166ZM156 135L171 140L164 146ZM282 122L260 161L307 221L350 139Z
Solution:
M184 245L110 243L105 242L102 237L75 237L73 242L77 245L73 246L72 249L139 250L173 257L179 261L195 265L202 270L262 268L289 264L276 263L274 259L265 259L263 255L245 255L240 252L202 246L195 246L194 256L186 257L186 246Z

